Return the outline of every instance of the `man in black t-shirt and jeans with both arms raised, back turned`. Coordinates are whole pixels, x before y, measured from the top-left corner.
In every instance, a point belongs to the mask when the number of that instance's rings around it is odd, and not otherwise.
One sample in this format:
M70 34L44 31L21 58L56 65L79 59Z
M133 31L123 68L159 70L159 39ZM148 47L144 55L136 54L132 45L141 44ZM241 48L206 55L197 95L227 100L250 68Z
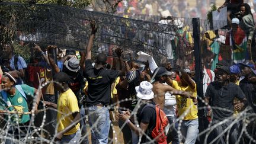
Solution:
M85 60L84 76L88 81L88 97L86 99L88 107L89 125L91 126L92 143L107 143L108 132L110 130L110 114L107 106L111 98L111 84L117 76L124 75L125 70L121 59L121 49L116 49L119 57L120 69L116 71L105 69L107 56L99 54L94 67L91 60L91 49L94 35L97 31L95 23L91 23L91 36L87 45L87 56Z

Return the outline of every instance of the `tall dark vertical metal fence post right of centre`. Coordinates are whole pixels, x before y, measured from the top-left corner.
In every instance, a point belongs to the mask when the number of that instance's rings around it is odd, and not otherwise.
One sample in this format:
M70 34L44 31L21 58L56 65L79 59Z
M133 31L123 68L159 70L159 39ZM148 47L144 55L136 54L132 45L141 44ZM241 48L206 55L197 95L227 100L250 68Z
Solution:
M193 39L194 39L194 57L195 57L195 71L196 71L196 85L197 85L197 95L202 98L203 95L203 68L201 65L201 49L200 49L200 19L193 18ZM202 101L199 100L199 107L204 107ZM199 132L204 130L204 109L200 109L198 112L199 116ZM204 136L200 136L200 143L203 143Z

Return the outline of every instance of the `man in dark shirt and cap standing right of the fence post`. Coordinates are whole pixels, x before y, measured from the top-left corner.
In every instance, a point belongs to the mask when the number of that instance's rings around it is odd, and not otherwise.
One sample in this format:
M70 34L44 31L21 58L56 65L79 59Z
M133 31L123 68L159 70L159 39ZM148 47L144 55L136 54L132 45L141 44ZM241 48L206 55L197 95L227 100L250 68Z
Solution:
M220 66L220 68L216 70L217 81L210 83L205 94L206 102L212 107L213 124L216 125L216 129L210 133L209 140L212 142L212 140L219 136L224 130L231 129L229 133L229 143L235 143L237 139L236 124L232 123L232 119L230 119L234 111L233 100L236 97L241 101L241 103L235 107L237 110L241 110L245 103L247 103L247 99L238 85L229 82L231 72L228 66ZM228 121L219 124L224 120ZM229 128L229 126L231 127ZM215 143L226 143L225 137L225 135L221 136Z

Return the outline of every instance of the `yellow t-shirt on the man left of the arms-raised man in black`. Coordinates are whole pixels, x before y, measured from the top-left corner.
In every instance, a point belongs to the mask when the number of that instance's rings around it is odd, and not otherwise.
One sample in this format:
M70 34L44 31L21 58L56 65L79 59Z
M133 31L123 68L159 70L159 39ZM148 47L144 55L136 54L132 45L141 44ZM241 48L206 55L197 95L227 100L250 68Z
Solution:
M57 111L57 121L59 123L57 132L61 132L72 123L72 113L79 112L78 100L71 89L68 89L68 91L59 95L57 100ZM76 131L80 129L79 127L80 123L76 124L73 129L69 130L69 132L64 135L72 135L73 133L76 133Z

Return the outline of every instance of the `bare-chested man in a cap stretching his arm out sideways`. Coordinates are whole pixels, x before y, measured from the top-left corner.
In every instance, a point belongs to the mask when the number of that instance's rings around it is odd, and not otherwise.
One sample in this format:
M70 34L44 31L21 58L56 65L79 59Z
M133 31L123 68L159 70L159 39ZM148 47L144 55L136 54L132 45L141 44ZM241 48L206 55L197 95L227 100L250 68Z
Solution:
M170 92L174 95L181 95L185 98L193 98L193 95L191 95L189 92L179 91L169 85L164 85L164 83L167 82L168 75L171 75L171 72L168 72L164 67L155 69L153 75L155 75L155 81L153 82L152 89L153 93L155 94L153 101L155 101L156 104L159 104L162 109L164 109L165 93L167 92Z

